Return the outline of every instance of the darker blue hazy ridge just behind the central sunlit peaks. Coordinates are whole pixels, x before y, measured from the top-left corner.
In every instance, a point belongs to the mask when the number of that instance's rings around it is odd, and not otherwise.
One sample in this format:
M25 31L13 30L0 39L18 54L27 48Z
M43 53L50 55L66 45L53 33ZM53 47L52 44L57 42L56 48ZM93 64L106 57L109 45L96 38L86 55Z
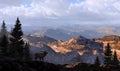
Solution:
M62 28L50 28L50 29L40 29L33 33L35 35L44 35L48 36L57 40L69 40L71 38L77 37L79 35L83 35L88 38L95 38L100 37L103 34L98 33L98 31L95 30L84 30L84 29L65 29L64 27ZM96 35L96 36L94 36Z

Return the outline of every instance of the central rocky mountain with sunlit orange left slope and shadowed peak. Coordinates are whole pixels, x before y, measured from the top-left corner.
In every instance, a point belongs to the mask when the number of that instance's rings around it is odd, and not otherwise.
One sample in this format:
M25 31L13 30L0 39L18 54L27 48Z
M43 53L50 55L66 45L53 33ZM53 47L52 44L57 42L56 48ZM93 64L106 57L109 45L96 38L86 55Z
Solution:
M70 52L77 52L79 56L74 57L73 61L94 63L96 56L99 56L101 62L103 62L102 44L94 42L83 36L72 38L67 41L58 41L48 44L55 52L61 54L67 54Z

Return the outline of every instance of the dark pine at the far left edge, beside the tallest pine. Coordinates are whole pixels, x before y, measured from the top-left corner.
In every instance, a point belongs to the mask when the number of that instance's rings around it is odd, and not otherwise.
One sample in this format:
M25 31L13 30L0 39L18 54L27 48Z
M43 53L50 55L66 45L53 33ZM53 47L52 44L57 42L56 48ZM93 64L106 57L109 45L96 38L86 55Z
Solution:
M7 30L5 26L5 22L3 21L2 27L1 27L1 41L0 41L0 53L4 56L8 54L8 35Z

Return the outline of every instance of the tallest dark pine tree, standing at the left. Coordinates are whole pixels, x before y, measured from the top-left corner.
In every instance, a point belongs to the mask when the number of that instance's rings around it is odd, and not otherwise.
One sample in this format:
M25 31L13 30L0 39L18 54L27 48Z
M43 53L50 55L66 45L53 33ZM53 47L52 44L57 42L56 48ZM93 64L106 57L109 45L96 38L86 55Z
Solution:
M23 58L23 47L24 41L22 39L23 32L21 29L21 23L19 18L17 18L14 28L10 33L10 55L18 60Z

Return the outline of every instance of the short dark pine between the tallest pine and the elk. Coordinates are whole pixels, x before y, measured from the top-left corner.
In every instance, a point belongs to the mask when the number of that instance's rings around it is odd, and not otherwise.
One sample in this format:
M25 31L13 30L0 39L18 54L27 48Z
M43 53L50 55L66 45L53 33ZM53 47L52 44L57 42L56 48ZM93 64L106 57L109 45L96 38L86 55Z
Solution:
M31 60L30 57L30 44L29 43L25 43L25 47L24 47L24 60L25 61L29 61Z

